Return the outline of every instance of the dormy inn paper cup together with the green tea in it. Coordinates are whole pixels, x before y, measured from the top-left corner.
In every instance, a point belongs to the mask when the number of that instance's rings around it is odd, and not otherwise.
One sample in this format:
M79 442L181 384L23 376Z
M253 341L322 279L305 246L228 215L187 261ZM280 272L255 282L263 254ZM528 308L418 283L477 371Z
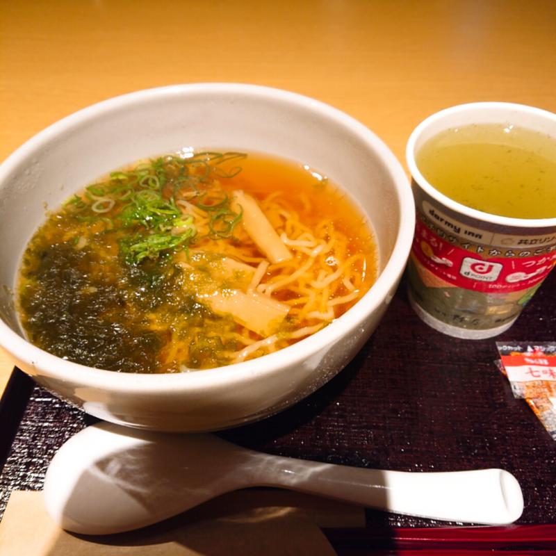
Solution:
M436 113L409 138L409 299L435 329L509 328L556 264L556 115L502 102Z

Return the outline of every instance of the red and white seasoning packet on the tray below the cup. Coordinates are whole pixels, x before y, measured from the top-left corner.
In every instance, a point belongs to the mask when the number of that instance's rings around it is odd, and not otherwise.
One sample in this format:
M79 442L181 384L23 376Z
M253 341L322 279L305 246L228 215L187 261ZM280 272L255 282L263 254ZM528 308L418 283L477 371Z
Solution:
M496 342L498 368L556 440L556 342Z

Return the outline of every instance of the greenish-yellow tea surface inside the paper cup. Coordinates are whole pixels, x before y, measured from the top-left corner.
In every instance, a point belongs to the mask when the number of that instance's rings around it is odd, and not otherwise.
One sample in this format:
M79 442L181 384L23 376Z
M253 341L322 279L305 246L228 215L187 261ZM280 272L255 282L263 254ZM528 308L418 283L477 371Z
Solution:
M416 163L434 188L471 208L556 217L556 138L510 124L461 126L425 142Z

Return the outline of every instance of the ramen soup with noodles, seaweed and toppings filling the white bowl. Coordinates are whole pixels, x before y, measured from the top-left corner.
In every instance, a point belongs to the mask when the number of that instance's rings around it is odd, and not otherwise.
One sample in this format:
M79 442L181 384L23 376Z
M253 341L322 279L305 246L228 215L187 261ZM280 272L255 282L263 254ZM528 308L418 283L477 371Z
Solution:
M318 172L184 150L49 213L26 248L18 305L29 340L58 357L177 373L300 341L376 275L366 219Z

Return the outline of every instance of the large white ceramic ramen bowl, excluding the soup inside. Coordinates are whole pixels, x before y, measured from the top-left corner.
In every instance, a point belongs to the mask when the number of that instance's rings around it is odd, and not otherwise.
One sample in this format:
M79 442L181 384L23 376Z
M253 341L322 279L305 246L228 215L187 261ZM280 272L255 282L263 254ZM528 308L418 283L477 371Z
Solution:
M59 359L28 343L13 309L27 241L56 207L102 174L182 147L268 152L341 184L368 215L380 275L350 311L279 352L179 375L128 375ZM365 126L316 100L231 83L172 85L85 108L26 142L0 166L0 343L28 375L99 418L153 430L202 431L274 414L341 370L392 299L414 233L400 163Z

